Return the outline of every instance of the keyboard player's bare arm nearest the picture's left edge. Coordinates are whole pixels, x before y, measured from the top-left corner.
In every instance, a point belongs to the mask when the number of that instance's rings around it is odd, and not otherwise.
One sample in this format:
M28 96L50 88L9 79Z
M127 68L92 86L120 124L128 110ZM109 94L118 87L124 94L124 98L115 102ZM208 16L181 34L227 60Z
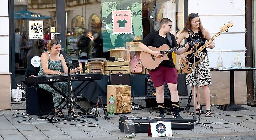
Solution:
M47 52L42 53L40 57L41 65L43 68L43 72L45 74L59 74L59 71L54 71L48 68L48 60L49 60L49 55Z

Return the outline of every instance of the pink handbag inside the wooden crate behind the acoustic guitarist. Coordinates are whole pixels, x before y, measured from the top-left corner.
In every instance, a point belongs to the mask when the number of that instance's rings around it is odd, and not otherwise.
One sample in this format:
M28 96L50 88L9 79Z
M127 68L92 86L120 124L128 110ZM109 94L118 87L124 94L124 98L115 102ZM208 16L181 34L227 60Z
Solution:
M131 54L130 55L130 71L131 71L131 73L140 74L142 72L142 65L139 65L138 63L140 63L139 54L137 54L137 55ZM135 69L135 67L136 67L136 69Z

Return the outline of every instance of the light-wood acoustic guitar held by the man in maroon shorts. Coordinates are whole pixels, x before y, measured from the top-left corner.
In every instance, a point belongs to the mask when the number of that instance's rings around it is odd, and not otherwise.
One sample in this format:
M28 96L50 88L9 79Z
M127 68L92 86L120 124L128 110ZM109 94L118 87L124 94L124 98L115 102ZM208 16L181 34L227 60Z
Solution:
M196 46L199 46L202 42L202 39L196 39L196 40L193 40L194 43L196 44ZM191 45L192 42L188 42L187 43L188 45ZM155 57L154 55L150 54L150 53L147 53L147 52L144 52L144 51L141 51L140 53L140 60L141 60L141 63L142 65L151 70L151 69L155 69L156 67L159 66L159 64L164 61L164 60L169 60L169 57L168 57L168 53L171 53L173 51L176 51L178 49L181 49L185 47L185 44L183 45L180 45L180 46L177 46L177 47L173 47L170 49L170 47L167 45L167 44L163 44L162 46L160 46L159 48L156 48L156 47L148 47L149 49L153 50L153 51L158 51L160 52L160 54L163 54L162 57Z

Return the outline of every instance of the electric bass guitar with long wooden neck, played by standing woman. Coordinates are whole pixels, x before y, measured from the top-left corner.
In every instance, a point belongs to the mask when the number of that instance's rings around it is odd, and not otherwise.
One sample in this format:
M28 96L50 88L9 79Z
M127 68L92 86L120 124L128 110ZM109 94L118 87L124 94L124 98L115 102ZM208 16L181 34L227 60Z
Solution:
M214 35L209 41L207 41L203 46L201 46L198 50L198 53L200 53L206 46L206 44L210 44L214 39L216 39L220 33L226 31L228 32L228 28L229 27L232 27L233 24L230 23L230 21L228 22L228 24L224 25L222 28L220 28L220 32L218 32L216 35ZM198 46L196 46L197 48ZM183 54L185 54L185 56L187 56L187 61L184 61L183 59L179 59L179 65L181 67L181 69L183 70L184 73L188 74L190 73L192 70L193 70L193 67L194 67L194 49L192 48L191 50L189 50L188 52L185 52ZM204 57L202 56L201 59L203 60ZM196 63L199 63L201 60L198 56L198 54L196 53L196 59L195 59L195 64Z

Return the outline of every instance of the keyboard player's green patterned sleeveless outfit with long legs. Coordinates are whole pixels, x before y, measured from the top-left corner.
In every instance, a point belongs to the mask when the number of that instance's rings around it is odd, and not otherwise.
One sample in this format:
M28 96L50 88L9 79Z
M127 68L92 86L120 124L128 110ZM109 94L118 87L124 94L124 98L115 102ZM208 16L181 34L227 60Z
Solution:
M47 51L48 52L48 51ZM58 61L52 61L51 60L51 57L50 57L50 53L48 52L49 54L49 60L48 60L48 68L50 70L54 70L54 71L60 71L61 70L61 62L60 60ZM59 54L59 57L60 57L60 54ZM42 64L40 62L40 71L38 73L38 76L41 76L41 75L56 75L56 74L45 74L43 72L43 68L42 68ZM58 82L58 83L52 83L54 85L54 87L56 87L57 89L60 90L60 92L66 94L68 96L68 82ZM58 92L56 92L53 88L51 88L49 85L47 84L38 84L39 87L43 88L44 90L47 90L49 92L52 93L52 96L53 96L53 103L54 103L54 107L56 107L60 101L62 100L62 95L60 95ZM72 97L72 95L71 95ZM73 100L74 101L74 100ZM64 106L65 103L62 103L59 108L57 109L60 109L61 107Z

